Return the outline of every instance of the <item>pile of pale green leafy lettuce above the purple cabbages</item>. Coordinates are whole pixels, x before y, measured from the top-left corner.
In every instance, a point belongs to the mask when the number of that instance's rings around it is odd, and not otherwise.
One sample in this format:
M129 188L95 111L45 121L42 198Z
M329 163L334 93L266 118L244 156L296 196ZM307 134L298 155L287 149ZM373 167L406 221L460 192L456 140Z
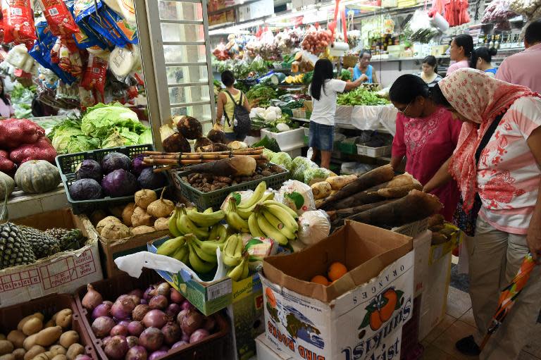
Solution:
M59 154L151 144L150 128L142 125L137 114L122 104L97 104L88 108L82 119L66 118L49 133Z

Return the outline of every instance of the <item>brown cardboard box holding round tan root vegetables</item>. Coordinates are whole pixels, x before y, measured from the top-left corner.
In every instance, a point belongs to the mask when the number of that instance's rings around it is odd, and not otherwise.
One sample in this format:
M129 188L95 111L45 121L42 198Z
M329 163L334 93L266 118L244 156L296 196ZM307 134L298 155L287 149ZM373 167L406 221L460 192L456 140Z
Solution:
M147 242L169 234L168 230L160 230L148 232L147 234L127 237L120 240L108 240L98 234L96 228L94 228L94 225L92 225L88 218L85 217L85 220L82 223L85 226L85 230L88 233L92 232L99 240L101 263L103 265L104 275L106 278L112 278L115 275L125 274L124 271L120 271L118 266L116 266L116 258L135 254L136 252L147 251Z

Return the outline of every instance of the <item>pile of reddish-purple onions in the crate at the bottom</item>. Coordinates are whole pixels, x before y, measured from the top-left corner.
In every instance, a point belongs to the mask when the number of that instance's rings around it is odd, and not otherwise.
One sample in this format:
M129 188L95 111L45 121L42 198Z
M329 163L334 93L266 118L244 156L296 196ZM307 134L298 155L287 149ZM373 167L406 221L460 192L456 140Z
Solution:
M203 316L165 282L134 289L115 302L88 285L81 304L108 359L155 360L219 330L216 316Z

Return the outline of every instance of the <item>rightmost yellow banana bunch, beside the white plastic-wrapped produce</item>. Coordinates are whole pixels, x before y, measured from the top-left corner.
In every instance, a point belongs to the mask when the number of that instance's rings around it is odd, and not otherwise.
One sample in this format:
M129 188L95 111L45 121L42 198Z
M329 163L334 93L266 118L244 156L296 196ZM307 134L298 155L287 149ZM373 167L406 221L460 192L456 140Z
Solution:
M297 239L297 213L284 204L265 200L257 204L248 218L248 227L255 237L268 237L286 245Z

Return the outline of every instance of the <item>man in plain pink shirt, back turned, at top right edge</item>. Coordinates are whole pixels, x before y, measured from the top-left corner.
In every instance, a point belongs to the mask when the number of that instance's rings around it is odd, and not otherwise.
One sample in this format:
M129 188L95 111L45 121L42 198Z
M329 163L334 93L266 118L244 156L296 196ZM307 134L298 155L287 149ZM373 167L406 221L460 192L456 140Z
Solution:
M526 50L506 58L499 66L496 78L523 85L534 92L541 93L541 20L536 20L526 28L524 35Z

